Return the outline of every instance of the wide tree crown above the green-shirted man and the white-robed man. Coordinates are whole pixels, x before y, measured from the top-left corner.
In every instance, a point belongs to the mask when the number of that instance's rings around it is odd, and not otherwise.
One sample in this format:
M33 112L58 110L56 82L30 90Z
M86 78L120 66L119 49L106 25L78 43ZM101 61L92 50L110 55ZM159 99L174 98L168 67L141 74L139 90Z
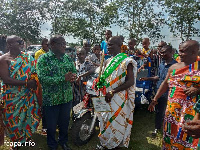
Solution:
M116 14L107 5L107 0L50 0L49 19L52 20L52 34L71 35L79 39L99 42L106 27Z

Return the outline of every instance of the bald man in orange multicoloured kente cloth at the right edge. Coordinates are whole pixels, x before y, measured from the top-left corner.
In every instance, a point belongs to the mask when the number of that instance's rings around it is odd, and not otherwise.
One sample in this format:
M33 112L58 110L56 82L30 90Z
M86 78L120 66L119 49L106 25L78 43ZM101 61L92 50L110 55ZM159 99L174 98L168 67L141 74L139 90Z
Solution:
M169 88L167 108L163 124L163 149L197 148L198 139L187 134L183 125L195 116L199 105L200 60L197 59L199 43L189 40L179 47L180 63L169 68L168 74L158 89L149 110L153 111L158 98ZM198 112L198 111L197 111ZM198 112L199 113L199 112Z

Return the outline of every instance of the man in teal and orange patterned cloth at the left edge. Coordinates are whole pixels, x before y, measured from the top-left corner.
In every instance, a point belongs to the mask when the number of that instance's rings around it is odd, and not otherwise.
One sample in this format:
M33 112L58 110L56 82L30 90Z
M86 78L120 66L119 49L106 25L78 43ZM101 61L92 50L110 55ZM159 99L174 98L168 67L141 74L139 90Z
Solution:
M10 36L7 38L9 52L0 57L3 120L10 140L21 144L30 139L40 120L35 61L21 52L23 46L21 38Z

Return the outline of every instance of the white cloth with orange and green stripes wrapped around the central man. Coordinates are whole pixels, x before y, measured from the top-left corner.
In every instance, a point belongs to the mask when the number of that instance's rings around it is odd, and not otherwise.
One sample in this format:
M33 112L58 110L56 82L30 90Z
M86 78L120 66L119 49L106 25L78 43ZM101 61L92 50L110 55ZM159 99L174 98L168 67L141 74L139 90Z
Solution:
M112 60L110 60L111 62ZM125 58L106 78L106 93L126 82L127 67L133 66L133 78L136 83L137 63L130 57ZM109 66L110 63L107 64ZM107 66L105 68L107 68ZM101 144L112 149L115 147L127 147L130 141L131 128L133 124L133 111L135 99L135 84L127 90L115 93L109 103L111 112L97 113L100 121L99 139Z

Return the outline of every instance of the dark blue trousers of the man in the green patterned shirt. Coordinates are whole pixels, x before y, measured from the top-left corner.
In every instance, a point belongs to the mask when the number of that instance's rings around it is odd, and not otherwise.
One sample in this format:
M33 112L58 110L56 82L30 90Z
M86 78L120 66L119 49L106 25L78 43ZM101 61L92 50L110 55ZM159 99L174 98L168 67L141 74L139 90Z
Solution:
M71 105L72 101L55 106L44 106L47 123L47 145L50 148L57 148L58 143L64 145L68 141ZM55 139L57 125L59 128L58 142Z

